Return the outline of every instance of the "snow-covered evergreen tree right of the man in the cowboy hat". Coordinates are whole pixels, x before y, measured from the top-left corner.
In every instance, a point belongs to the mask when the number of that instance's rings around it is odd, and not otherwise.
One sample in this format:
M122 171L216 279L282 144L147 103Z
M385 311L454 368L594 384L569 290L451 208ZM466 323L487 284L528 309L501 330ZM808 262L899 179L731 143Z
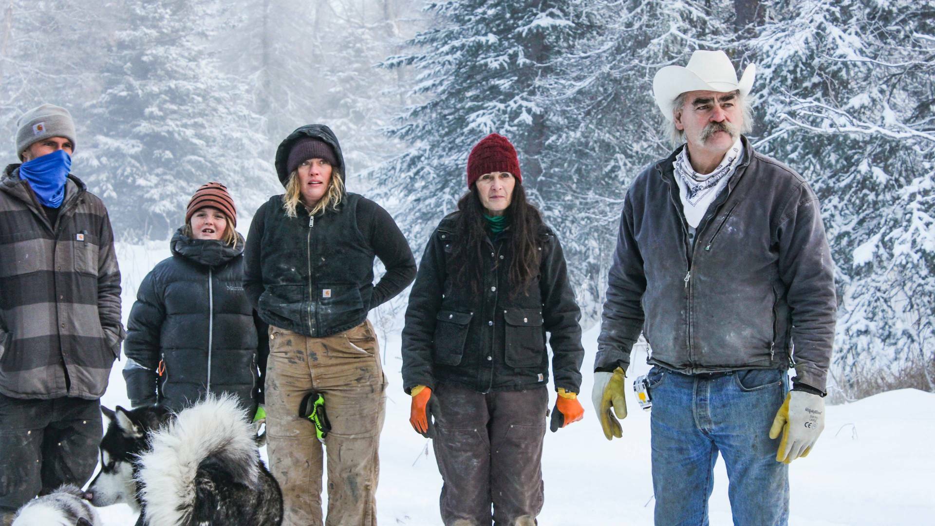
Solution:
M935 373L935 7L776 2L753 41L768 137L822 199L836 366Z

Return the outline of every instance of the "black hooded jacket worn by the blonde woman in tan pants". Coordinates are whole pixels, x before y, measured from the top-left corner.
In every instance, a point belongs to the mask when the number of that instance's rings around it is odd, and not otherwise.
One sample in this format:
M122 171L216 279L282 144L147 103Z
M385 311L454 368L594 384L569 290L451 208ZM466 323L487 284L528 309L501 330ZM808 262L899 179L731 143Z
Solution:
M276 169L285 186L286 160L295 141L323 140L335 151L339 176L347 178L335 134L309 124L282 141ZM367 312L399 294L415 278L415 260L396 222L380 205L345 193L338 210L309 216L298 207L288 217L283 196L260 206L247 237L247 295L266 323L321 338L352 329ZM386 273L373 285L373 258Z

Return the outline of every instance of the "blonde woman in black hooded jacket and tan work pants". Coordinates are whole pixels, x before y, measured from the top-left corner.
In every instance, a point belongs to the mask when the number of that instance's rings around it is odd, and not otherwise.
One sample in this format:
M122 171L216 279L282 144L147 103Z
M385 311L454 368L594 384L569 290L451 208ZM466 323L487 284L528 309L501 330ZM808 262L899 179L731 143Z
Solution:
M247 240L247 295L270 325L266 436L282 488L283 524L376 524L386 377L367 321L370 309L415 278L409 243L389 213L345 191L338 139L325 125L296 129L280 144L285 194L264 203ZM373 285L373 258L386 273ZM322 444L299 405L324 396L331 431Z

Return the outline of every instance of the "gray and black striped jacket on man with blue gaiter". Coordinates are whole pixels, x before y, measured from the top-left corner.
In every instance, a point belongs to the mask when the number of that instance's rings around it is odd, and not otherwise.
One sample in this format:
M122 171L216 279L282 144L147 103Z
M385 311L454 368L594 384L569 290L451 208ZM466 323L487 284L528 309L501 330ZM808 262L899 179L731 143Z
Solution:
M69 175L51 225L9 165L0 177L0 393L100 398L124 335L120 292L104 203Z

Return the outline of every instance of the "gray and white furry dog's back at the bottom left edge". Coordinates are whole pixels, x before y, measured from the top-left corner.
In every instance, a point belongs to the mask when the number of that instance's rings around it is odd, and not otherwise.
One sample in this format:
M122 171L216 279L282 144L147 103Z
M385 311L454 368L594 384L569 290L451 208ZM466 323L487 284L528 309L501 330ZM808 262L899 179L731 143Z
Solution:
M20 508L12 526L99 526L97 510L84 500L84 491L65 484L48 495L29 501Z

